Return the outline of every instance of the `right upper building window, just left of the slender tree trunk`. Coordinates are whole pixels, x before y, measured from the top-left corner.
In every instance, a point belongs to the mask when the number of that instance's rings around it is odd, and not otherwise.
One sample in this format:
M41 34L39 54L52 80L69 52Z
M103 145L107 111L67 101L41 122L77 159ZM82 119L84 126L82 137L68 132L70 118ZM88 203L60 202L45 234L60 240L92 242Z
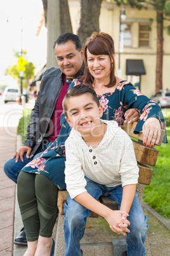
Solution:
M139 47L150 46L150 25L139 24Z

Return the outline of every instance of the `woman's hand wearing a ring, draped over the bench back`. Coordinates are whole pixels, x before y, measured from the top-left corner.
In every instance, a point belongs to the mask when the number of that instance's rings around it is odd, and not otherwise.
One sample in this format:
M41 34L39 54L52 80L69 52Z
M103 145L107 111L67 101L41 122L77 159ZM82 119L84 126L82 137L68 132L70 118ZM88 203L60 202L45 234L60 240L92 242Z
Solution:
M143 145L154 146L160 139L160 122L155 117L148 118L143 124Z

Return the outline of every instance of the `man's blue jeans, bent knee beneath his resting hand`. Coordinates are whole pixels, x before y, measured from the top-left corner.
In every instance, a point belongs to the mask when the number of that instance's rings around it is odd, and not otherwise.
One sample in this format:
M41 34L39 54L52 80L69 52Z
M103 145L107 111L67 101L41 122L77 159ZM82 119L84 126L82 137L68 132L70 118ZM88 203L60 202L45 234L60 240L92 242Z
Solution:
M17 183L17 178L18 178L18 174L20 173L20 170L26 166L26 164L28 164L30 161L32 161L33 159L36 159L37 157L39 157L41 155L42 152L44 152L44 150L46 150L46 148L48 148L48 146L50 146L52 144L51 141L48 141L48 143L44 143L44 146L42 148L42 146L39 146L36 155L34 157L31 158L27 158L26 157L26 152L23 154L23 162L21 159L18 160L18 162L16 163L16 157L15 159L8 159L5 163L4 163L4 173L8 176L8 178L10 178L11 180L13 180L15 183Z

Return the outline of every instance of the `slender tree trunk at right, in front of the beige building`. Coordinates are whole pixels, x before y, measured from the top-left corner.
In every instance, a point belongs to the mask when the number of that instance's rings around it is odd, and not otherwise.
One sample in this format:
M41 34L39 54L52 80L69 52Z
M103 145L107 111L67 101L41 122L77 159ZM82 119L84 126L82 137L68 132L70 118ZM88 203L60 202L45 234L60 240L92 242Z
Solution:
M156 88L155 92L162 89L162 68L163 68L163 14L157 12L157 67L156 67Z

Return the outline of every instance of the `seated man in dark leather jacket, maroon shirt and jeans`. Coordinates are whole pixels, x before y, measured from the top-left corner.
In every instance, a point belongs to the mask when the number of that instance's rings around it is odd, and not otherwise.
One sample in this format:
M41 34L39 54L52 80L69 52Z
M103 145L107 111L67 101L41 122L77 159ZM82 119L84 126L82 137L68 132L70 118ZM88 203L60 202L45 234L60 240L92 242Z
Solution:
M79 78L84 69L84 51L78 36L65 33L54 44L59 68L50 68L42 76L36 104L30 116L23 146L4 164L4 172L17 182L20 170L48 148L58 137L62 100L73 78ZM35 156L35 157L34 157ZM27 245L25 230L15 239L16 245Z

